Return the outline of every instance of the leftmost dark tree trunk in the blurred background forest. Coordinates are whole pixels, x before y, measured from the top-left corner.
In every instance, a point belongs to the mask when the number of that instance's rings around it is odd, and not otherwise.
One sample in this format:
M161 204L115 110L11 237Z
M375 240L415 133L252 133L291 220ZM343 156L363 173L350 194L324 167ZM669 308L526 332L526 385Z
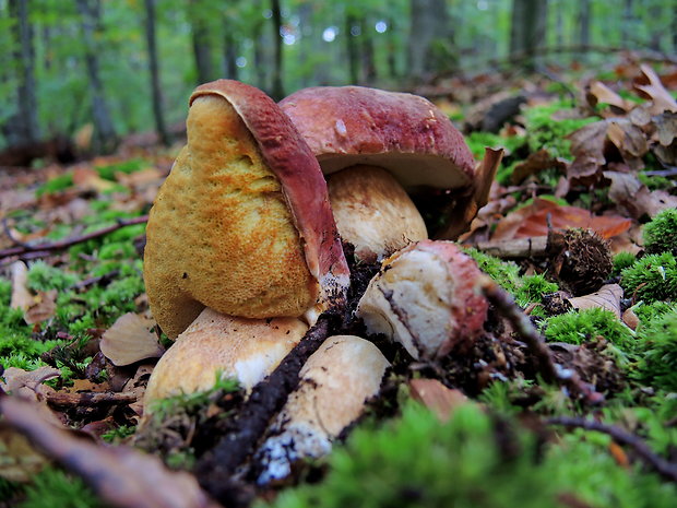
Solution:
M10 0L10 15L14 19L14 61L17 69L16 115L8 123L12 134L12 144L26 144L39 138L37 123L37 98L35 84L35 48L33 45L33 26L28 21L28 2ZM14 123L15 128L11 129ZM14 138L14 139L11 139Z

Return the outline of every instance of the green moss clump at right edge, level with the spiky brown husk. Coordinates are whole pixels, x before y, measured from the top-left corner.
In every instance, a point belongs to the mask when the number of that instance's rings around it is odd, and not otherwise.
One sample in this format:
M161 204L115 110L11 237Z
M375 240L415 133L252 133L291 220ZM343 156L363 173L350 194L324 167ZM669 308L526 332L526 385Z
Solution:
M621 272L620 285L628 297L653 303L677 299L677 261L672 252L644 256Z

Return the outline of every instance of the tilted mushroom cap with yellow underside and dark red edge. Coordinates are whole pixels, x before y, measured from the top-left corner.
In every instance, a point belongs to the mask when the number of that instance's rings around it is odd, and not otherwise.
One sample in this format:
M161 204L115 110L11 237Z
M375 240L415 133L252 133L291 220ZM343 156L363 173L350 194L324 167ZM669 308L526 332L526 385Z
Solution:
M341 302L348 269L326 184L289 119L236 81L199 86L188 144L155 200L144 279L176 338L206 306L248 318L296 317Z

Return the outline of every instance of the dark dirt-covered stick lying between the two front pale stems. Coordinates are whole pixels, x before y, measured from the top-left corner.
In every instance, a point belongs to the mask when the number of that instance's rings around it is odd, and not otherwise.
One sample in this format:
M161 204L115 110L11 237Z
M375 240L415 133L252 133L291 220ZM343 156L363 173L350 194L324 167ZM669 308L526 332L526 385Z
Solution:
M216 499L227 501L233 491L237 491L234 473L254 451L270 420L282 410L289 393L298 386L298 373L326 339L331 319L333 317L328 314L319 317L316 326L306 332L277 368L253 388L233 423L233 430L199 460L195 472L200 483Z

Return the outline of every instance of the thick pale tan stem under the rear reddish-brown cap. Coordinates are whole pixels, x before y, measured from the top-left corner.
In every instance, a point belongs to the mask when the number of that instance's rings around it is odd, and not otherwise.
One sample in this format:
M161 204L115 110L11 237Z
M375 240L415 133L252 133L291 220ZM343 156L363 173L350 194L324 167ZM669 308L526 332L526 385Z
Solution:
M341 237L364 261L380 261L428 238L416 205L383 168L359 165L331 175L329 199Z

